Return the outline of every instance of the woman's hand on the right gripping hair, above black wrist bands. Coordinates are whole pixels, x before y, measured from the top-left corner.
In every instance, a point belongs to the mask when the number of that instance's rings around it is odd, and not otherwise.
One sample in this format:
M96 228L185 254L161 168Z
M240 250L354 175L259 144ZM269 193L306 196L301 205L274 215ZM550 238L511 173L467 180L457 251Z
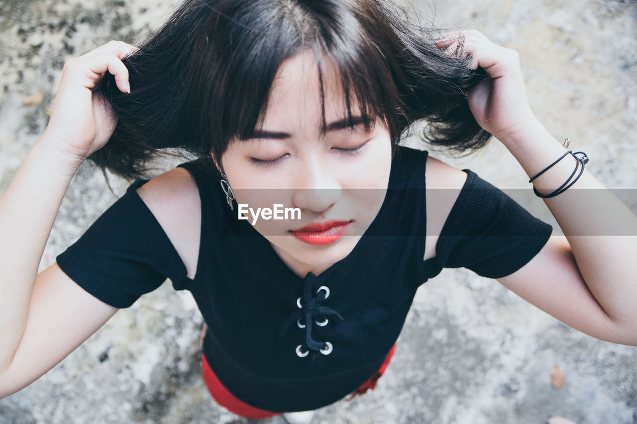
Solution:
M473 30L447 34L437 45L453 53L463 37L463 54L473 56L471 69L482 67L491 77L467 94L471 112L480 127L506 144L538 124L526 96L520 56Z

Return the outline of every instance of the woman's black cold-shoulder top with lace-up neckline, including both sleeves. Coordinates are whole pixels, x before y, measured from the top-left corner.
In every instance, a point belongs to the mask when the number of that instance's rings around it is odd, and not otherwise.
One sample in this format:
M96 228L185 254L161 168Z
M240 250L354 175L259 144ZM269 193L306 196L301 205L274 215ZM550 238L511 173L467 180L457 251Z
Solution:
M399 148L375 220L347 257L318 276L299 278L265 237L238 220L202 160L180 165L193 174L201 196L194 279L186 277L168 236L135 191L147 180L132 183L57 263L115 307L131 306L168 277L176 290L192 292L209 327L204 354L230 392L269 411L316 409L375 373L427 279L443 267L506 276L527 264L552 232L463 169L468 178L441 230L436 257L423 261L426 159L426 151ZM326 318L326 325L317 325Z

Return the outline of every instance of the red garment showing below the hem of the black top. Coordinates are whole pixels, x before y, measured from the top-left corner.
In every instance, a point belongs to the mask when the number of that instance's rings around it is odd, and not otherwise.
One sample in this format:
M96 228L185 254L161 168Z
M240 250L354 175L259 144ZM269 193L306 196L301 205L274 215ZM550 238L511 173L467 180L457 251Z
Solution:
M363 383L362 386L354 390L354 392L352 392L352 394L345 400L351 400L357 395L362 395L368 390L374 390L374 388L376 388L378 378L380 378L380 376L383 375L383 372L385 372L385 369L387 369L387 365L389 365L389 361L391 360L392 355L394 355L394 350L396 350L396 344L392 346L391 350L387 354L387 358L385 358L383 364L380 365L378 371L376 371L376 373L371 376L368 381ZM225 407L225 409L231 413L245 418L252 418L253 420L261 420L262 418L269 418L271 416L281 414L250 406L234 397L234 395L221 384L215 373L210 368L210 365L208 365L208 361L203 353L201 353L201 370L203 371L203 379L206 382L206 386L208 386L208 392L210 392L210 395L213 399L215 399L217 404Z

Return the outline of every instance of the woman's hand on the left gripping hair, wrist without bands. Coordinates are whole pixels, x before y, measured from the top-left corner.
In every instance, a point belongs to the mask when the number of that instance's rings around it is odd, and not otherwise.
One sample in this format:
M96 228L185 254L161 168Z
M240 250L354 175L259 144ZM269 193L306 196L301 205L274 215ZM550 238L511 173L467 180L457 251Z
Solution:
M130 92L128 69L122 59L139 50L123 41L110 41L64 64L45 139L62 154L84 160L99 150L115 131L117 116L104 106L97 91L106 71L121 92Z

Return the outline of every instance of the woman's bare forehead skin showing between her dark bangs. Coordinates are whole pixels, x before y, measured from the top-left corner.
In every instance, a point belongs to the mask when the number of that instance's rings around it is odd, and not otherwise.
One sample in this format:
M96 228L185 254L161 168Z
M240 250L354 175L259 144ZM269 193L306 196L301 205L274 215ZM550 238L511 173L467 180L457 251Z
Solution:
M319 72L320 66L320 72ZM357 115L355 95L350 95L352 115ZM324 109L323 109L324 108ZM262 129L316 131L326 122L347 117L347 101L338 67L329 57L320 64L304 50L284 60L273 81Z

